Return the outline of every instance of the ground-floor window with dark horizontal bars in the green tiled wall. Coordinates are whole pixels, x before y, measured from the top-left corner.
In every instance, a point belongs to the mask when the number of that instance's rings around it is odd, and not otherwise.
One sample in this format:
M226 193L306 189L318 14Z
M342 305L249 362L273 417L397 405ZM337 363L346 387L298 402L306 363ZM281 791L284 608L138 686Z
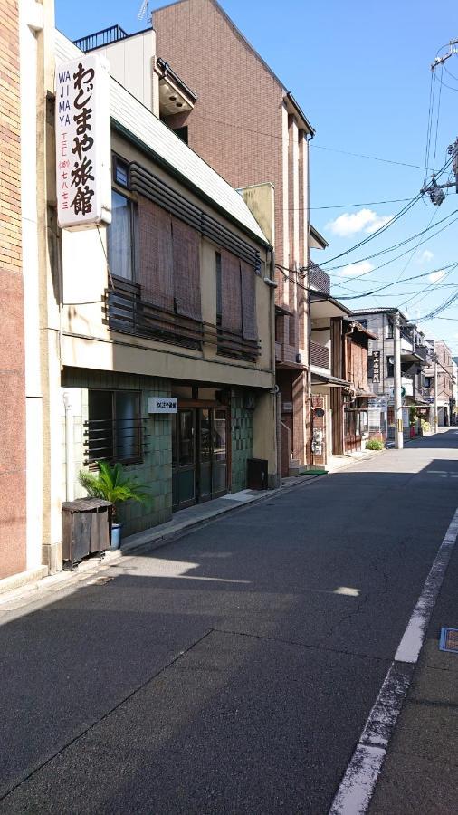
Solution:
M131 390L90 390L89 463L129 463L141 458L140 394Z

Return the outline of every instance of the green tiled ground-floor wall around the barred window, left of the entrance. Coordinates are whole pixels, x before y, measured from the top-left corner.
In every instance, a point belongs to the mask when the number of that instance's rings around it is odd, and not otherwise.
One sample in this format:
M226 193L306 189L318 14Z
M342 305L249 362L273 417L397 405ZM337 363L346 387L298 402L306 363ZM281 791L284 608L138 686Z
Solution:
M121 504L119 517L124 523L123 536L142 532L157 523L168 521L172 515L172 436L171 417L148 414L148 398L153 396L170 396L170 383L167 379L139 377L106 371L81 369L64 369L62 388L74 395L75 407L81 410L81 416L74 413L75 428L75 497L81 497L85 491L78 484L77 477L84 459L84 422L88 419L88 389L112 388L139 390L141 392L142 417L147 419L143 461L138 465L127 465L129 475L138 477L146 484L150 500L146 504L133 501ZM64 436L63 436L64 437ZM65 446L62 450L62 475L65 469Z

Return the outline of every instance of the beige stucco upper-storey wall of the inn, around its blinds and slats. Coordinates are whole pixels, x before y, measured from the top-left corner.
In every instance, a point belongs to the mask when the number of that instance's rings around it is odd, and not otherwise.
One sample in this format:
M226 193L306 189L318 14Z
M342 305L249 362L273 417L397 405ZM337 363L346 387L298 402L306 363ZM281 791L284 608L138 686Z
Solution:
M215 216L215 211L194 196L165 170L149 161L117 134L112 147L128 161L137 160L162 178L170 187ZM217 215L224 223L224 218ZM260 249L262 268L266 251L232 222L224 225L234 235ZM167 379L196 379L215 383L272 388L272 289L255 275L256 312L261 340L261 356L255 363L217 357L214 345L203 350L183 349L154 340L145 340L109 330L103 322L103 293L109 283L106 260L106 229L62 232L62 364L78 368L116 370ZM206 238L201 241L201 292L203 319L216 322L215 251L219 247Z

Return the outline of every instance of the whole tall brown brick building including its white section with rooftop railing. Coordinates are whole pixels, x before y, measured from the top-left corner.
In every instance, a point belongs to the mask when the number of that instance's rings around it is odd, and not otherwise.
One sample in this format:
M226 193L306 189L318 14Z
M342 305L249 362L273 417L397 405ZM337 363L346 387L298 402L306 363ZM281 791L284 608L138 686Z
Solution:
M327 246L310 226L314 129L215 0L167 5L152 22L154 30L128 35L113 26L77 44L106 54L119 82L241 192L274 246L281 419L291 424L288 457L303 466L310 436L310 246Z

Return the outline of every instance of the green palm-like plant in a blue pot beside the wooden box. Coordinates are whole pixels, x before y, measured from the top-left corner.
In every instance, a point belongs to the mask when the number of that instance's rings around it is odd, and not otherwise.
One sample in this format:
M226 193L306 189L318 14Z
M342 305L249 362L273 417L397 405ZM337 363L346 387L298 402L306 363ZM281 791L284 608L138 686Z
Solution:
M121 545L122 523L118 521L118 506L123 501L146 503L148 492L145 484L139 484L136 478L126 475L121 464L111 466L106 461L98 461L98 473L81 470L78 480L91 498L104 498L113 504L111 523L111 549Z

